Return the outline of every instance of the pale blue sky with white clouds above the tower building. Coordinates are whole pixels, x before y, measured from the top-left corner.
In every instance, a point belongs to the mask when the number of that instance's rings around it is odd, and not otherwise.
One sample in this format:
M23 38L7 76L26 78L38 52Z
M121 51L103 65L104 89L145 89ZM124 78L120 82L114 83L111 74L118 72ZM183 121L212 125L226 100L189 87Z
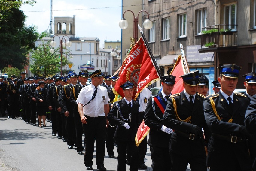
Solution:
M76 37L98 37L100 48L104 40L121 41L118 26L122 18L120 0L53 0L52 5L53 19L56 16L75 15ZM36 25L39 33L50 30L50 0L37 0L34 6L22 5L21 10L27 16L25 24Z

